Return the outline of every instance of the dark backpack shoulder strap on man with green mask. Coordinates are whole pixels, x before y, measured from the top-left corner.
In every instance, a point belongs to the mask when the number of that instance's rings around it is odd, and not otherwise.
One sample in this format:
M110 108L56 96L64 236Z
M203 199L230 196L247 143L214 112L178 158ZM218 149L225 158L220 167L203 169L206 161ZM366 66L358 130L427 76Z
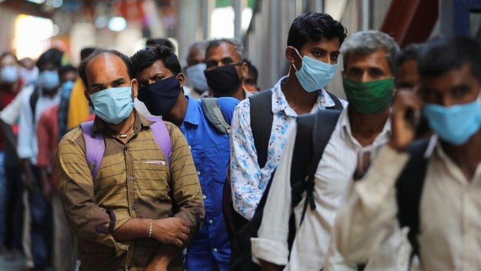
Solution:
M312 210L315 209L312 197L314 175L340 115L341 111L338 110L318 110L314 114L297 118L296 141L291 164L291 206L293 208L297 206L302 199L303 192L307 190L308 197L301 222L304 219L308 203ZM306 161L307 157L309 160Z

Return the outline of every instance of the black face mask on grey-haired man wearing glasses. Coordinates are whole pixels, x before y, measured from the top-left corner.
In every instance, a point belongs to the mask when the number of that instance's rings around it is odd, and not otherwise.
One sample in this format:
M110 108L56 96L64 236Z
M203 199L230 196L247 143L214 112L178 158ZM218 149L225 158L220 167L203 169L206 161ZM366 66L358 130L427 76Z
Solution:
M230 64L204 71L207 85L220 96L226 96L236 91L241 86L241 78L239 78L236 69L236 66L239 65L241 64Z

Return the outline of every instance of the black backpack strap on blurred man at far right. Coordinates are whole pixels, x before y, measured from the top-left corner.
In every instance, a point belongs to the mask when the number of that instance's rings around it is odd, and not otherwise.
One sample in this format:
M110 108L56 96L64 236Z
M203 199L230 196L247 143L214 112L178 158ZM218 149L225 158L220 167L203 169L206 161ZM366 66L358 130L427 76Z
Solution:
M425 157L429 146L428 139L415 141L408 148L410 159L396 182L396 201L398 204L398 221L401 228L408 226L408 239L412 246L412 255L418 255L419 243L419 204L421 201L424 177L428 159Z

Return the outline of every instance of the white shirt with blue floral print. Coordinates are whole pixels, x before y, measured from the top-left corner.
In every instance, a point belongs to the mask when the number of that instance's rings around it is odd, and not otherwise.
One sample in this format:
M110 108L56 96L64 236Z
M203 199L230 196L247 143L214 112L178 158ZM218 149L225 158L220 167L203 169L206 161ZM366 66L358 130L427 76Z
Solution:
M268 145L267 162L260 168L257 162L257 151L250 127L250 101L245 99L239 103L234 112L231 124L231 182L234 208L243 217L251 219L266 189L271 175L277 167L287 135L293 129L297 113L289 106L281 90L282 77L272 91L272 131ZM334 107L335 103L328 93L321 89L311 113L318 109ZM255 94L254 94L255 95ZM347 102L341 100L345 107Z

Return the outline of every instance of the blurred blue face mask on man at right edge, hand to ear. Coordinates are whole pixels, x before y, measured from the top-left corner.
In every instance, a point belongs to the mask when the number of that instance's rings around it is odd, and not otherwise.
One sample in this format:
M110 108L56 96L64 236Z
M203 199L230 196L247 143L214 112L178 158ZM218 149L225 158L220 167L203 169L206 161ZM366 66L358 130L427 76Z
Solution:
M431 129L447 143L463 145L481 127L481 100L444 107L426 104L423 108Z

